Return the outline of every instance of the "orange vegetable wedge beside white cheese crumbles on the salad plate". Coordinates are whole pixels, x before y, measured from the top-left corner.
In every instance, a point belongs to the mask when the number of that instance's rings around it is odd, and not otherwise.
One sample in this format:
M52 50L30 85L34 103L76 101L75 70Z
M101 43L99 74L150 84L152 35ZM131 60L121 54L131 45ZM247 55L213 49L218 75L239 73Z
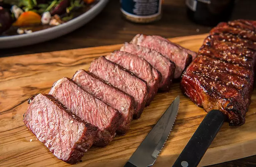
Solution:
M14 22L13 26L28 26L31 24L39 24L41 23L41 16L33 11L23 12L16 22Z

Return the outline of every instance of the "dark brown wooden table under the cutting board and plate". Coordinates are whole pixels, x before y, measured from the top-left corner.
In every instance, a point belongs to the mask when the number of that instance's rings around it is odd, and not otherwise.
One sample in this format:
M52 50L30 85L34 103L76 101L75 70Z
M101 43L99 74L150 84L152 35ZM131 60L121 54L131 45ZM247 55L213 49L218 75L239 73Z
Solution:
M238 1L232 19L243 18L256 20L255 5L256 1L252 0ZM110 0L106 8L84 27L68 35L40 44L15 49L2 49L0 50L0 56L123 43L129 41L137 33L176 37L207 33L210 29L211 27L197 25L187 18L184 0L165 0L162 19L158 22L144 25L134 24L125 20L120 13L119 0ZM256 155L212 165L211 167L255 166L255 162Z

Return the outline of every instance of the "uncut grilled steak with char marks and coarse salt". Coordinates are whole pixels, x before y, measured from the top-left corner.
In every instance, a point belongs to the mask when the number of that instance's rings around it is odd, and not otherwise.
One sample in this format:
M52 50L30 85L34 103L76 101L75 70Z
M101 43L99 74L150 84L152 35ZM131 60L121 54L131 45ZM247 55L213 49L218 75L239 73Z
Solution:
M251 41L255 32L249 24L228 24L212 29L199 55L183 73L181 90L207 112L222 111L233 126L245 123L251 102L256 43ZM250 39L243 36L249 31Z

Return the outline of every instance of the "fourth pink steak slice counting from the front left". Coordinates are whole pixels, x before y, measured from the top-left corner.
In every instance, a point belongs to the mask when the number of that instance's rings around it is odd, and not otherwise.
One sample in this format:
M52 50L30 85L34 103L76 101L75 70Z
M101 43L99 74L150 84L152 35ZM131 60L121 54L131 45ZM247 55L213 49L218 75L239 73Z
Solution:
M95 59L89 68L94 75L109 82L125 93L134 97L134 118L139 118L146 103L148 86L146 81L138 78L133 73L118 64L107 60L104 56Z

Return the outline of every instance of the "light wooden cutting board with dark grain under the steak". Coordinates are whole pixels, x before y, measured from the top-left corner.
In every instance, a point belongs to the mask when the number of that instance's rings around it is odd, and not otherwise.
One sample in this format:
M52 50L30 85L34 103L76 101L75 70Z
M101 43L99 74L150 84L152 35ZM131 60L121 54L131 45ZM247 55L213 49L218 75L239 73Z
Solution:
M206 34L171 38L191 50L198 51ZM67 166L58 160L27 130L22 115L28 98L48 93L52 83L61 77L72 77L78 69L88 69L90 62L119 49L119 45L20 55L0 58L0 166ZM92 147L77 166L123 166L151 130L174 98L180 95L178 116L173 130L154 166L171 166L193 135L206 112L182 95L179 83L171 91L158 93L130 131L116 136L104 148ZM256 154L256 91L246 114L246 123L230 127L224 123L200 166L221 163Z

